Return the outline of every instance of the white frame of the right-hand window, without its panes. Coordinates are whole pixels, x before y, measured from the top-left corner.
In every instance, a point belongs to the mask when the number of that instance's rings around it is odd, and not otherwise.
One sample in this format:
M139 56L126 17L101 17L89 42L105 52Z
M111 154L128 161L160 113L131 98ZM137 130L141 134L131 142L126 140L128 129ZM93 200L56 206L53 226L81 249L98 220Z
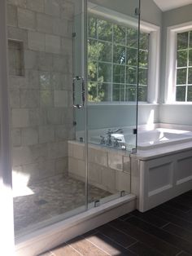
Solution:
M192 30L192 21L177 24L167 29L166 73L165 73L165 104L192 104L192 102L176 101L177 76L177 33Z

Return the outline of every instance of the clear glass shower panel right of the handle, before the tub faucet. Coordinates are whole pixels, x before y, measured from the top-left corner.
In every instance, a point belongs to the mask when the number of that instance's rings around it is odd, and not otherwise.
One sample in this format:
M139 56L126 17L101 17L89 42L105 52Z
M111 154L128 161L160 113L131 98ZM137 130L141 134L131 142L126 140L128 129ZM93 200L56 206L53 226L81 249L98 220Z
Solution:
M136 152L139 1L88 1L88 198L130 193ZM93 191L96 196L93 196Z

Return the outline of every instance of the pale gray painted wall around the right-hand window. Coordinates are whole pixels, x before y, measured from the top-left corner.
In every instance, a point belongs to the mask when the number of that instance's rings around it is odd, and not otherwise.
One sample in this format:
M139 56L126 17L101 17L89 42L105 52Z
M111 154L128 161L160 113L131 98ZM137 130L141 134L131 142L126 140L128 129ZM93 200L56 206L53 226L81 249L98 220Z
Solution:
M182 24L189 22L192 19L192 4L174 9L172 11L166 11L163 13L163 29L162 29L162 61L161 61L161 82L160 82L160 102L164 103L164 86L165 81L165 61L166 61L166 43L167 43L167 28L172 25ZM160 104L159 106L159 121L192 125L192 118L190 117L192 111L192 105L170 105Z

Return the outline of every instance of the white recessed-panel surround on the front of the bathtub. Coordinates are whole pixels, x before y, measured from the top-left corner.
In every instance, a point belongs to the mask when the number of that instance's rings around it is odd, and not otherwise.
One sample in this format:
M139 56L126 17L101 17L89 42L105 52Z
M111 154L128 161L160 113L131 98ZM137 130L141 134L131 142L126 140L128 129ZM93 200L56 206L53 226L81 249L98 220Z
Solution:
M182 151L162 152L161 157L158 154L145 157L146 154L142 156L142 151L133 156L131 192L137 195L138 210L150 210L192 189L192 143L190 144L190 148ZM182 147L182 143L180 146ZM164 148L161 150L164 151Z

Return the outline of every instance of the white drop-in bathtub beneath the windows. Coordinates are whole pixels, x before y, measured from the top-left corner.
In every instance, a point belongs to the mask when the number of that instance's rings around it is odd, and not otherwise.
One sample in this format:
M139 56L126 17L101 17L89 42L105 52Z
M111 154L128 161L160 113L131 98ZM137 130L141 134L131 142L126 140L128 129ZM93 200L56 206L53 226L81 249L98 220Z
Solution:
M111 130L116 129L111 128ZM122 146L124 145L128 150L135 148L136 136L133 135L133 127L123 127L122 129L124 131L123 134L111 135L111 148L114 148L115 139L120 139L117 149L123 148ZM101 136L104 137L105 142L107 141L107 129L89 130L88 135L89 143L101 144ZM80 140L80 138L84 138L84 135L82 132L77 132L76 137L77 140ZM189 141L192 141L192 131L190 130L156 127L154 130L139 128L137 133L138 150L150 150ZM106 147L106 143L103 146Z

